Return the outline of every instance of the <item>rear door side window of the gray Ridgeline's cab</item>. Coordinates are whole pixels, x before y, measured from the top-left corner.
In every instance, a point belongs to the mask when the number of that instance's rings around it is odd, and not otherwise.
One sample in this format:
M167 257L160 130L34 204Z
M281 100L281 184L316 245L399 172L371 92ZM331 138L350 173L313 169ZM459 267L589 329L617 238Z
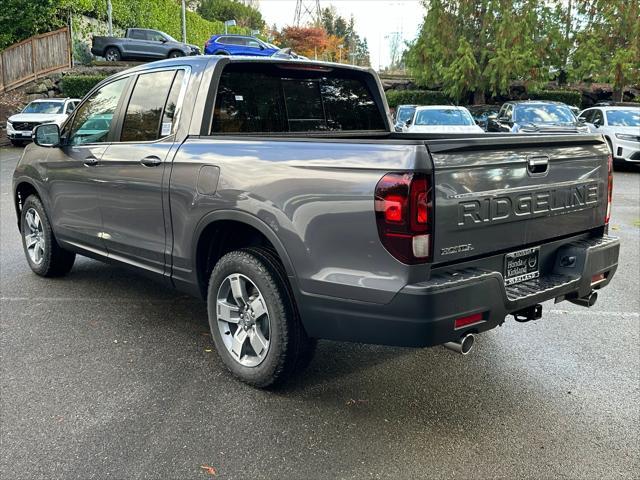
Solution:
M175 70L165 70L138 76L125 112L120 141L157 140L171 133L172 125L166 124L173 122L182 75L182 70L178 74ZM174 82L174 78L179 81ZM170 109L173 111L169 112Z

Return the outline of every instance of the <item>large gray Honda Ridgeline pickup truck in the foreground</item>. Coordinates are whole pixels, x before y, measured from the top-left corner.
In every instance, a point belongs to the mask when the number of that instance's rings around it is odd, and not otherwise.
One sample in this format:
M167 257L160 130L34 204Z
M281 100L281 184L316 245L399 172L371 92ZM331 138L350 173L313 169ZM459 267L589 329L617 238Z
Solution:
M394 133L361 68L160 61L33 137L13 187L31 269L81 254L206 299L259 387L320 338L466 353L545 300L593 305L617 267L601 136Z

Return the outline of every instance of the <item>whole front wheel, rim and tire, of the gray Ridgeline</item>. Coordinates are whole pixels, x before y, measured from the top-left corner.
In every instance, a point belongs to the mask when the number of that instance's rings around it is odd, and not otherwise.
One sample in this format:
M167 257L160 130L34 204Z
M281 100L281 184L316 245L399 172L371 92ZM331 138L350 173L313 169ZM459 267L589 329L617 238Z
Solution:
M58 245L42 202L35 195L27 197L22 206L20 230L22 247L34 273L42 277L58 277L69 273L76 254Z

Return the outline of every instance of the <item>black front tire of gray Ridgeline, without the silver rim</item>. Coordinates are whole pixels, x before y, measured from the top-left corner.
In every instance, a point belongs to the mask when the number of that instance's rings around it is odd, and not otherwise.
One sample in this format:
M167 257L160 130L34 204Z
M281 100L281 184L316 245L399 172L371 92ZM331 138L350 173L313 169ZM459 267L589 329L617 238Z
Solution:
M39 222L42 225L39 238L42 240L43 248L41 250L43 253L40 256L39 262L32 259L27 247L27 235L30 232L27 214L32 210L37 213ZM76 259L76 254L64 250L58 245L42 202L36 195L27 197L22 206L20 232L22 233L22 248L24 249L25 257L27 258L29 267L31 267L34 273L41 277L60 277L69 273Z

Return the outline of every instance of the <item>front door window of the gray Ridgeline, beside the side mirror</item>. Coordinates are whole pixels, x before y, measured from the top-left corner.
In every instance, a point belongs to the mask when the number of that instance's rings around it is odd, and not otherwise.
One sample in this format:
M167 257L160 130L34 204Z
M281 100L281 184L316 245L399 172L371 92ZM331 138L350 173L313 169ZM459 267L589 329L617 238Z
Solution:
M122 78L105 85L78 107L68 137L71 145L107 141L127 81L128 78Z

